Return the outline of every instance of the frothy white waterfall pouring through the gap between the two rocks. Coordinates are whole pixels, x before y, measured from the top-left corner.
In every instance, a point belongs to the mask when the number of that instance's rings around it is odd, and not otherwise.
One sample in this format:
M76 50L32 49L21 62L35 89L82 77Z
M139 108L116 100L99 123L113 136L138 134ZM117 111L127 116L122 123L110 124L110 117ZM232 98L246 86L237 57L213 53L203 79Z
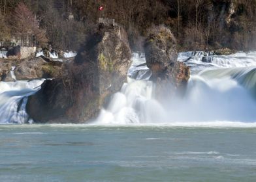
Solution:
M121 92L114 94L107 109L101 110L96 123L160 122L165 113L160 103L153 98L152 82L129 79Z

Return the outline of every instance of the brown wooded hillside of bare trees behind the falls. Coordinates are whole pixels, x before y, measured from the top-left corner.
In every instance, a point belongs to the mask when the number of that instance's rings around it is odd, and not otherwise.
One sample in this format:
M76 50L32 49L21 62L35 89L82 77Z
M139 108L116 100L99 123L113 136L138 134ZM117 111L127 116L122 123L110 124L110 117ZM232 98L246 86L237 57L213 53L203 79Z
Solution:
M102 16L123 25L133 49L142 49L146 30L160 24L171 29L179 49L256 48L254 0L0 0L0 41L12 37L19 3L31 10L56 49L78 49Z

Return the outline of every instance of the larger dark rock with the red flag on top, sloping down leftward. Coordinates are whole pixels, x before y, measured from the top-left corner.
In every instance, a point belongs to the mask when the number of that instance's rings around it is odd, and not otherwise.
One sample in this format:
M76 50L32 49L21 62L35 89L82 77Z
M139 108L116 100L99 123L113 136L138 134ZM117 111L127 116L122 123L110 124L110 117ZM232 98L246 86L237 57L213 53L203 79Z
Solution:
M131 66L131 50L118 25L100 23L88 36L69 74L45 81L27 102L29 116L40 123L81 123L95 118L109 96L121 89Z

